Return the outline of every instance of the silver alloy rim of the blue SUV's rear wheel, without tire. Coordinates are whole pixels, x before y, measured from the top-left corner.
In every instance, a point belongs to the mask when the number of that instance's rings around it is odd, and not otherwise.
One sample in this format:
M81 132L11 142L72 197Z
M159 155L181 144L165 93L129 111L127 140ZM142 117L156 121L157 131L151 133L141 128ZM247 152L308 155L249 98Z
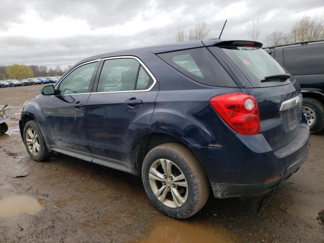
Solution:
M148 177L154 195L165 206L179 208L185 204L188 198L188 183L183 172L171 160L155 160Z

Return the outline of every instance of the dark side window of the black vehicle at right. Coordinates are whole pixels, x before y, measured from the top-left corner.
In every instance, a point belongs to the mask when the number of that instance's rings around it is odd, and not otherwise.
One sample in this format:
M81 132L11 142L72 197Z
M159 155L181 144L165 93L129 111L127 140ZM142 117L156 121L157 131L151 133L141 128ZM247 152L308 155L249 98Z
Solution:
M284 66L293 75L324 73L324 44L309 44L284 49Z

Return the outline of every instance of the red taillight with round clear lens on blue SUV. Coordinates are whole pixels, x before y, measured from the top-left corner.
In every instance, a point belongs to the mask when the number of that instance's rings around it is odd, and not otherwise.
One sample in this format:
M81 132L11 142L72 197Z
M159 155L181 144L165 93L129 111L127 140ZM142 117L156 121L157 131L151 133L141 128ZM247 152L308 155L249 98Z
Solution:
M210 104L236 132L244 135L260 133L260 115L257 99L245 93L218 95Z

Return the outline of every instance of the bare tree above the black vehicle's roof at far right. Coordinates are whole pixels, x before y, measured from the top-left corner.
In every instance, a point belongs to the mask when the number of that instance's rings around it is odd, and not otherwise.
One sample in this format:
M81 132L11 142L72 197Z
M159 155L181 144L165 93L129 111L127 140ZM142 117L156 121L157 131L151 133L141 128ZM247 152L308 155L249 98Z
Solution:
M310 18L309 16L304 16L292 29L294 42L316 41L323 35L324 26L317 18Z

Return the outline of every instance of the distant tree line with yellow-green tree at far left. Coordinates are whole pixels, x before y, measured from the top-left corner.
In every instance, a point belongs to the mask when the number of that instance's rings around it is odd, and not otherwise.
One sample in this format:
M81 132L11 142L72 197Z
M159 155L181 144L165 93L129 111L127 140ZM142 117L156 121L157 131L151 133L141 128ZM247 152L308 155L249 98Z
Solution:
M29 77L61 76L69 67L62 69L60 65L55 68L44 65L10 65L0 66L0 80L24 79Z

